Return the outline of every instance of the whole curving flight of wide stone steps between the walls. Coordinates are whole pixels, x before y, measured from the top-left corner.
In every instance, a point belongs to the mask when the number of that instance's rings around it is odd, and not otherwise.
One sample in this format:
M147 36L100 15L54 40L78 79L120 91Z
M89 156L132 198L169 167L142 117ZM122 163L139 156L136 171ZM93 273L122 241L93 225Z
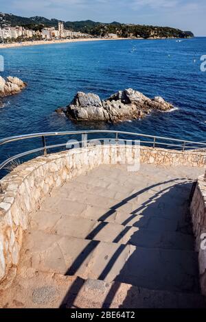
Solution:
M54 190L24 236L19 306L205 307L188 214L199 174L101 166Z

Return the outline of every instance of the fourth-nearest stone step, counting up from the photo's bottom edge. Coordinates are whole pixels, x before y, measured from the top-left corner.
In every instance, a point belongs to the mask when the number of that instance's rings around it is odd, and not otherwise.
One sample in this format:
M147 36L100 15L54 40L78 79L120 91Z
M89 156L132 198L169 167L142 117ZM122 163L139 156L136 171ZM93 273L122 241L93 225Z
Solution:
M67 184L68 186L68 184ZM61 214L84 214L89 215L89 212L95 212L95 218L99 220L103 217L109 217L112 214L122 214L124 219L131 219L138 216L146 216L148 218L158 217L160 219L170 219L173 221L179 221L185 223L187 219L188 202L187 199L171 199L167 197L167 194L162 195L158 199L152 199L149 193L145 193L141 197L133 195L124 199L113 199L108 197L110 191L104 191L104 196L101 196L95 190L93 193L87 191L87 193L79 193L71 187L66 187L63 192L60 190L55 193L55 196L47 198L43 203L41 209L46 211L60 212ZM62 199L64 202L62 203ZM172 204L172 207L168 207L168 204Z

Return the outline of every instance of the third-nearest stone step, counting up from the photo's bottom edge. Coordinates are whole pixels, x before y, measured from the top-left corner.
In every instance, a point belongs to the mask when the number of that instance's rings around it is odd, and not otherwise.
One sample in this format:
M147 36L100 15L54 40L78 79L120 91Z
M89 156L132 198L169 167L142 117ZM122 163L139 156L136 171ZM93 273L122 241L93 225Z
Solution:
M99 221L104 223L116 223L125 227L137 227L139 229L152 230L154 232L180 232L192 235L190 221L179 221L176 219L165 219L156 215L141 216L129 214L115 209L104 209L93 206L85 206L84 203L64 201L50 210L39 210L31 216L31 226L41 230L54 227L62 218L73 216L74 219L82 221Z

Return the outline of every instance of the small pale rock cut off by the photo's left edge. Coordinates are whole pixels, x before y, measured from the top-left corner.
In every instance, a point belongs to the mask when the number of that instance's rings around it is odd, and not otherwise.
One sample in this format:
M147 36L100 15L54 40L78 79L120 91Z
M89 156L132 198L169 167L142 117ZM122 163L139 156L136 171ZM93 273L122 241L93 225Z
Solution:
M9 76L4 79L0 76L0 97L17 94L21 92L26 85L27 84L18 77Z

